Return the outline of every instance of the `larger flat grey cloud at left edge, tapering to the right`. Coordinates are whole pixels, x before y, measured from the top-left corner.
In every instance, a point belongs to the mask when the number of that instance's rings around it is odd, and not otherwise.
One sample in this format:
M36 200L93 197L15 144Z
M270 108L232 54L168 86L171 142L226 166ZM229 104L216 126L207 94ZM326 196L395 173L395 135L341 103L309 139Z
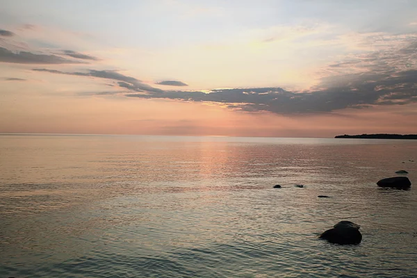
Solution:
M67 60L56 55L33 54L31 52L13 52L0 47L0 62L18 64L76 64L74 60Z

